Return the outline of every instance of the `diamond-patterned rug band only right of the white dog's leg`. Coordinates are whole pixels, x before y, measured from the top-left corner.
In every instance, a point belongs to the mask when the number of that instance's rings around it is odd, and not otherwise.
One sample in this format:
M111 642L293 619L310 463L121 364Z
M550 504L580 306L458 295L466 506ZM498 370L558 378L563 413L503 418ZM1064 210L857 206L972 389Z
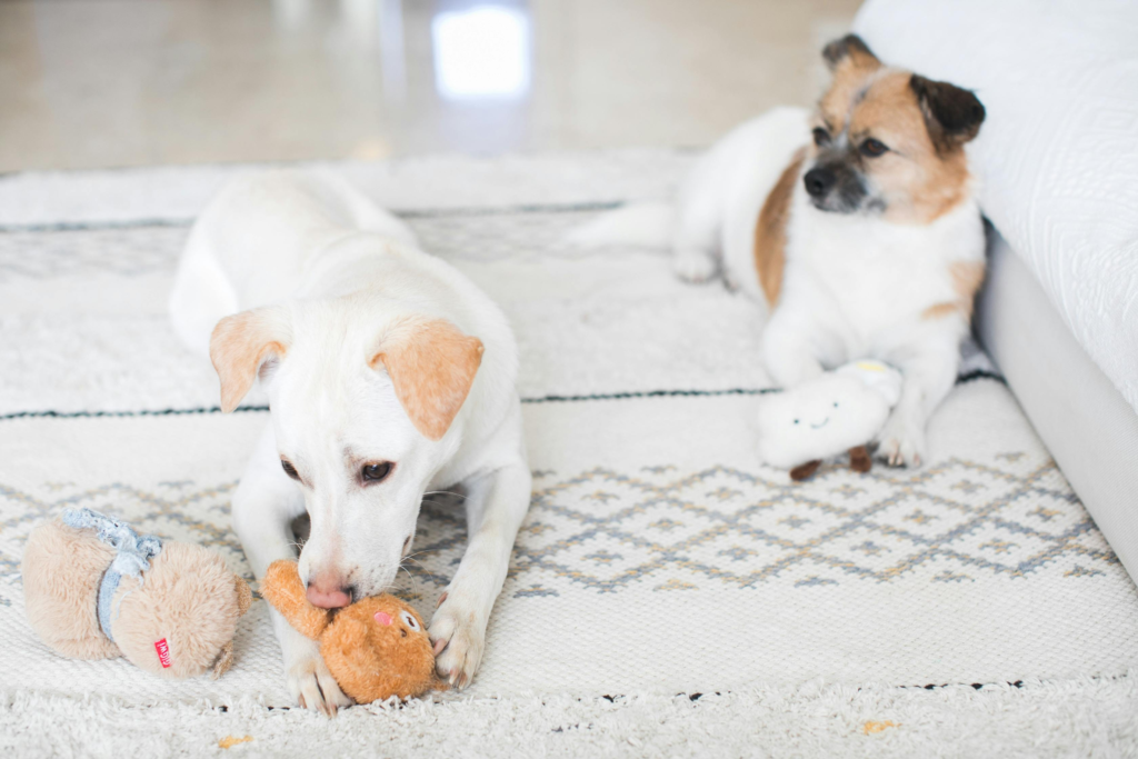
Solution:
M723 467L596 468L549 484L541 472L511 577L618 593L642 581L943 580L939 562L930 574L937 559L1016 578L1118 564L1070 490L1048 487L1054 472L1050 461L1003 470L957 459L904 476L828 467L806 485Z

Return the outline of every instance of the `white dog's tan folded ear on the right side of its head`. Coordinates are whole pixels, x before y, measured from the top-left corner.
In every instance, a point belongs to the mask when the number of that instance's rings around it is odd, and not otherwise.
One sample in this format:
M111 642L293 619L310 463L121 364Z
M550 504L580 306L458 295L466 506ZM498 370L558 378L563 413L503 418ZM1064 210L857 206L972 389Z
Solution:
M438 440L451 428L483 361L483 341L444 319L404 319L379 339L372 369L382 364L395 396L424 437Z

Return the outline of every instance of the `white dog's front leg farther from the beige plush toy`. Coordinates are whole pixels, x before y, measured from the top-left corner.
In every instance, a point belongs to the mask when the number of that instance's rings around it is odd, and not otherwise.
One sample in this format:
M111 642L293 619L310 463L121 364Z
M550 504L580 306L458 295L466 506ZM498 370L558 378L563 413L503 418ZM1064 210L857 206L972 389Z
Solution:
M523 461L465 482L467 553L430 624L439 677L465 687L483 658L486 624L502 592L513 542L529 509Z

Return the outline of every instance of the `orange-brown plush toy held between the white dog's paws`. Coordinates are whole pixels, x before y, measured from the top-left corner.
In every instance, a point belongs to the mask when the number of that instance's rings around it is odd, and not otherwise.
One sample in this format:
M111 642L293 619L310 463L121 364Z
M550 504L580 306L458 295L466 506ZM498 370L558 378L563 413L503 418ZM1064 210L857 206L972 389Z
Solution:
M340 690L356 703L411 699L446 686L435 676L430 637L415 610L394 595L374 595L331 613L311 603L295 561L274 561L261 595L298 633L320 642Z

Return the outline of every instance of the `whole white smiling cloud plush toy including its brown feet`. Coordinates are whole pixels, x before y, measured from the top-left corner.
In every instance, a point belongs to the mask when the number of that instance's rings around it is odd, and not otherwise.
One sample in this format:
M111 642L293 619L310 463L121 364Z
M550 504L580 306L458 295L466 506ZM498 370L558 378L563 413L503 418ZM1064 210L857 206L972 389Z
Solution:
M759 401L759 456L793 480L823 459L849 452L850 468L869 471L866 444L901 395L901 373L880 361L855 361Z

